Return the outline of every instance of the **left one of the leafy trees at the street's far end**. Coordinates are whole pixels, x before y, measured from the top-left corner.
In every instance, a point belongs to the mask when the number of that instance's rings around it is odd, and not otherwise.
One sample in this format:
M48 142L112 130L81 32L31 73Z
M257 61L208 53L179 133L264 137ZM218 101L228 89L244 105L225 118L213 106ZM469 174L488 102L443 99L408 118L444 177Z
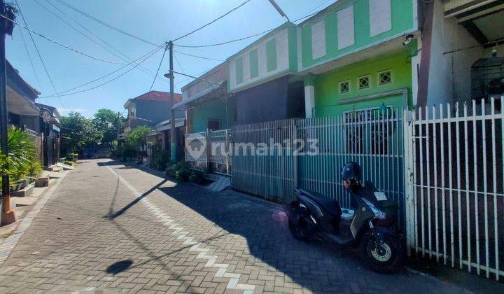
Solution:
M60 124L62 154L81 154L85 147L102 142L102 130L99 130L92 120L81 116L80 113L69 113L68 116L63 116Z

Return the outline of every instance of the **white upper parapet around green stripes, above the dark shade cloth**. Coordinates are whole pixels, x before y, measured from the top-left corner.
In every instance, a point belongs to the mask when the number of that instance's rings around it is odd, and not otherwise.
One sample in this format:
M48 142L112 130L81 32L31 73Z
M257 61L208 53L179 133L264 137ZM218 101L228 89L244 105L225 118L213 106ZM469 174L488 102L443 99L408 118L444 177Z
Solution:
M267 64L266 64L266 43L272 39L276 39L276 69L274 71L267 72ZM259 75L256 78L250 77L250 52L252 50L258 50L258 71ZM244 69L244 81L237 85L236 83L236 60L242 57L243 58L243 69ZM239 55L236 55L230 59L230 90L233 91L238 87L246 87L251 85L258 80L263 80L266 78L272 78L278 73L282 71L286 71L289 69L289 50L288 50L288 29L283 28L276 32L276 34L272 34L268 38L260 41L252 45L251 47L241 52Z

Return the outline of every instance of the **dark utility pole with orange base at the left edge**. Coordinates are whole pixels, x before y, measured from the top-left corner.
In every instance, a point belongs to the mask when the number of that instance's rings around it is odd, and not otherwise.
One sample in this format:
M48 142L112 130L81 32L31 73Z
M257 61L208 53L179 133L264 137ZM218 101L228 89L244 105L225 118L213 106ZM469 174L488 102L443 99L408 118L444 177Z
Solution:
M0 0L0 13L6 15L6 5L3 0ZM12 10L10 10L12 14ZM9 15L10 16L10 15ZM12 16L11 16L12 18ZM5 48L5 35L12 34L13 23L10 20L2 18L0 20L0 144L1 153L3 156L8 156L8 112L7 112L7 72L6 72L6 48ZM2 211L1 211L1 224L8 225L15 223L15 211L10 209L10 185L9 177L2 174Z

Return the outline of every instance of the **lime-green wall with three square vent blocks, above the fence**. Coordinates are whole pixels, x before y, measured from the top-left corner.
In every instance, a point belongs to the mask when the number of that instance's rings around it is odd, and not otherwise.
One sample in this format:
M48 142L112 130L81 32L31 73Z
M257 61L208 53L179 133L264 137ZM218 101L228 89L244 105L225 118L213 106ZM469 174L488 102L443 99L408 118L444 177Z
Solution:
M316 76L314 79L315 116L333 116L353 109L366 109L381 106L383 104L393 107L411 106L412 69L410 55L411 52L409 52L409 50L404 50L394 55L358 62L342 69ZM378 85L379 72L388 69L392 71L392 83ZM369 88L363 90L358 89L358 78L361 76L370 76ZM350 92L340 94L339 83L345 80L350 81ZM339 102L345 99L353 99L405 87L409 89L408 105L405 104L405 100L400 95L355 102L352 104L339 104Z

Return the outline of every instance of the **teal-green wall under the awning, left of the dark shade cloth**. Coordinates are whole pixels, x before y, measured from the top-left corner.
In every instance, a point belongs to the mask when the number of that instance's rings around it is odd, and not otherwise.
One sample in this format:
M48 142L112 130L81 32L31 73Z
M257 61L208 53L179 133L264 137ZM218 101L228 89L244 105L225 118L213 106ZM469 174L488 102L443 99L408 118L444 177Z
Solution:
M235 113L235 99L228 99L228 129L235 125ZM193 108L193 130L191 132L204 132L207 130L209 119L221 120L221 129L226 129L225 114L224 98L212 99L208 102L198 104Z

